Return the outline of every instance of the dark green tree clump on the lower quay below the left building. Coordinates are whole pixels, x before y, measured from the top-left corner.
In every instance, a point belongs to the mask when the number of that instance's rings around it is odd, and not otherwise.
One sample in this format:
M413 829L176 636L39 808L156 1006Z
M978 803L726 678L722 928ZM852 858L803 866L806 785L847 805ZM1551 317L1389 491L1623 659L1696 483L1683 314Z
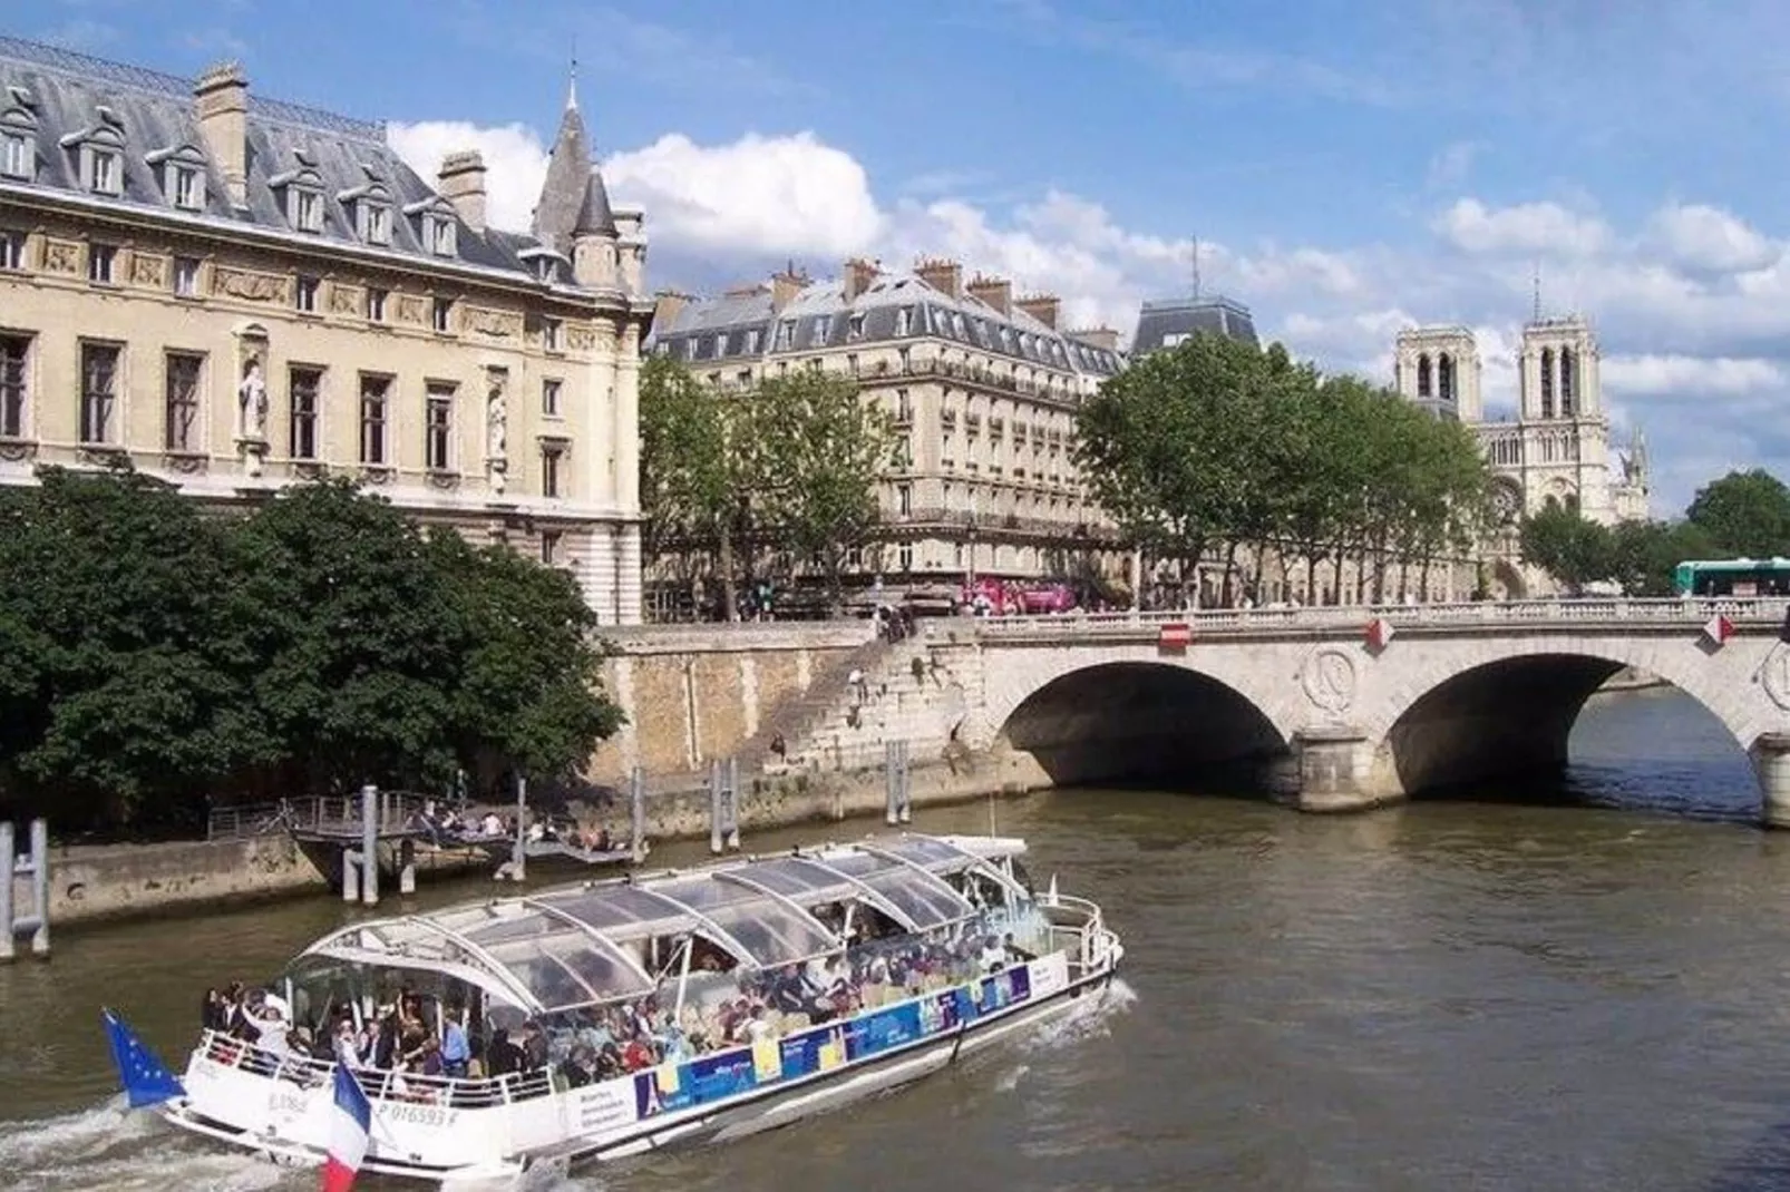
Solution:
M0 804L181 829L208 798L571 777L619 709L573 580L331 480L245 517L131 471L0 490Z

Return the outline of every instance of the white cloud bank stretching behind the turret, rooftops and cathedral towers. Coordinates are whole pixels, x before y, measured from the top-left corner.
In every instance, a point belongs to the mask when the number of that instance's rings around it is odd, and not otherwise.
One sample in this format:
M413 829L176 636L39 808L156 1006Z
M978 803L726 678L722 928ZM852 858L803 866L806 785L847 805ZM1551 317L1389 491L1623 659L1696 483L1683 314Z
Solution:
M526 227L546 170L530 129L426 122L392 125L390 136L426 175L446 152L482 149L492 222ZM945 175L879 197L848 152L807 132L721 145L669 134L603 168L619 200L646 208L655 285L714 290L784 258L825 276L854 254L891 267L952 256L967 272L1058 294L1070 326L1124 333L1142 299L1190 288L1190 242L1128 227L1087 197L974 202L968 181ZM1720 471L1717 455L1790 473L1790 455L1772 456L1790 453L1790 440L1770 430L1790 403L1781 242L1706 204L1665 204L1622 229L1591 209L1586 199L1500 208L1462 197L1414 222L1407 245L1203 242L1201 272L1206 292L1253 306L1266 338L1382 383L1400 328L1470 326L1486 408L1498 415L1516 404L1518 336L1539 267L1547 313L1575 310L1597 326L1615 421L1641 424L1654 444L1656 512L1683 508Z

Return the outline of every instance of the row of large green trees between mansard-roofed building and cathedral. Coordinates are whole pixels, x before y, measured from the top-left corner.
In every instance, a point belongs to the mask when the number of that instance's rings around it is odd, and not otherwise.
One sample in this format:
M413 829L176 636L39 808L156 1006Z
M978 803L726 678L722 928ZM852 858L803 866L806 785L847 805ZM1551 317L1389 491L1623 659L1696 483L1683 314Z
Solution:
M1232 594L1240 558L1258 583L1278 555L1314 594L1328 567L1339 600L1355 562L1384 600L1391 567L1468 555L1489 517L1489 473L1459 422L1214 335L1106 381L1081 410L1076 464L1131 542L1181 575L1223 558Z

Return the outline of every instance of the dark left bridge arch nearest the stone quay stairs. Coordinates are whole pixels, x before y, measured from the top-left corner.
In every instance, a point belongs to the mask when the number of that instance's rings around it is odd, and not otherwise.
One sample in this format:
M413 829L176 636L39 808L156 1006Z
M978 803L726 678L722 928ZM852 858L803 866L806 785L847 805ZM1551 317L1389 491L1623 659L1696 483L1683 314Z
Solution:
M999 746L1056 786L1217 773L1260 786L1289 757L1291 728L1235 682L1155 650L1110 653L992 700Z

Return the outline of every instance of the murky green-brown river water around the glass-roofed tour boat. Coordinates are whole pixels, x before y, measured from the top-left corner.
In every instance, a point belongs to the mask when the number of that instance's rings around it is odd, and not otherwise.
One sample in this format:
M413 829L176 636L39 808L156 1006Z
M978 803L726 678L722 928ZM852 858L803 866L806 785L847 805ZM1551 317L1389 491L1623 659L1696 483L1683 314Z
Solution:
M558 1187L1790 1188L1790 834L1754 829L1756 804L1743 754L1674 693L1593 700L1554 789L1351 818L1006 802L1033 873L1126 938L1103 1008L825 1120ZM0 968L0 1187L315 1188L124 1120L97 1011L179 1058L204 984L344 915L317 897L64 931L52 963Z

